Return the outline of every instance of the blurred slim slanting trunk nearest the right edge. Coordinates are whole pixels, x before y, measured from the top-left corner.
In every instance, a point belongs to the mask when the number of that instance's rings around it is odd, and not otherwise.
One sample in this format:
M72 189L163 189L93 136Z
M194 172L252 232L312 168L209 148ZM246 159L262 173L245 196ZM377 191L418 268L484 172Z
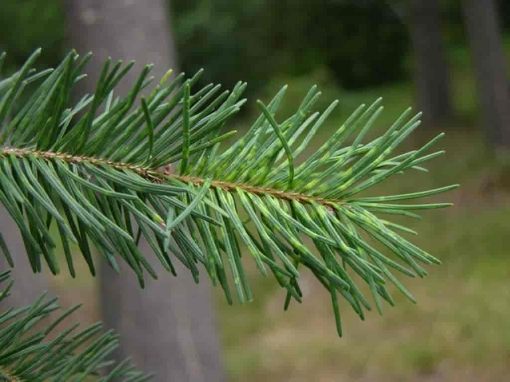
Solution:
M489 141L509 150L510 97L497 5L494 0L464 0L463 8Z

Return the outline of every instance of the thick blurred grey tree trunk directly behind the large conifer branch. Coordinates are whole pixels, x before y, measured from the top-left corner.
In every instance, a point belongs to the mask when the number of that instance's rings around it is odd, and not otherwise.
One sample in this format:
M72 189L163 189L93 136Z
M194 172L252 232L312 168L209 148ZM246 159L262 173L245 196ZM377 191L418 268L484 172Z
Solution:
M80 54L94 52L85 68L89 77L82 84L82 93L94 88L109 56L124 63L136 60L134 69L117 87L117 95L127 93L147 63L155 63L150 73L156 76L155 85L169 68L175 68L165 0L69 0L64 4L73 46ZM140 249L148 259L155 258L146 241L141 240ZM206 275L198 286L183 266L176 266L179 276L175 279L157 260L151 264L160 279L154 281L146 275L143 290L127 266L121 267L119 276L104 263L101 267L104 321L120 335L121 349L115 357L133 357L140 370L157 374L156 381L223 380Z

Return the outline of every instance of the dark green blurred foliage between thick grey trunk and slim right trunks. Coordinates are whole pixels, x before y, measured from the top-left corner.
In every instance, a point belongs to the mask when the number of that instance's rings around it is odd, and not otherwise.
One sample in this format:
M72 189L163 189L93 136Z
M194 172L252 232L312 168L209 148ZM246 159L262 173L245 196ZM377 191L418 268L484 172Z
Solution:
M205 79L250 91L274 73L328 67L346 88L402 78L406 25L387 2L192 0L171 2L184 69L207 63ZM246 67L250 70L247 71Z

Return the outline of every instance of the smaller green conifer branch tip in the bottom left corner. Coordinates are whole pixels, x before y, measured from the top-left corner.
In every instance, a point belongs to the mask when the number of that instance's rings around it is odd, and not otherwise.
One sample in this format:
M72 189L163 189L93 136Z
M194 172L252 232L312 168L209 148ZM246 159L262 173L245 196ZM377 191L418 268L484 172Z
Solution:
M0 291L0 302L9 297L13 285L10 271L0 272L0 284L9 281ZM130 360L117 365L108 361L118 346L118 338L111 331L100 335L100 323L77 332L78 325L55 336L57 326L80 306L74 306L55 317L60 307L57 299L45 299L44 294L33 304L11 308L0 313L0 381L44 382L83 380L94 376L98 382L145 381L151 375L134 370ZM99 376L100 371L111 367L111 371Z

